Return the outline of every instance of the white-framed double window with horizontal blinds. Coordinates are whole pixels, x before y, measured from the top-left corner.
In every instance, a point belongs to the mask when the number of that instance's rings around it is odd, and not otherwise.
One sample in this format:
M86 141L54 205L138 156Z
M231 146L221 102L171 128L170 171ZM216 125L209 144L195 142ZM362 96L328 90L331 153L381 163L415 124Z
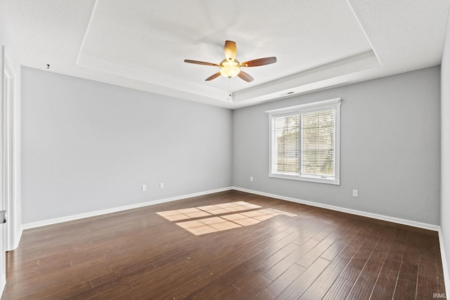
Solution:
M341 99L270 110L269 176L339 185Z

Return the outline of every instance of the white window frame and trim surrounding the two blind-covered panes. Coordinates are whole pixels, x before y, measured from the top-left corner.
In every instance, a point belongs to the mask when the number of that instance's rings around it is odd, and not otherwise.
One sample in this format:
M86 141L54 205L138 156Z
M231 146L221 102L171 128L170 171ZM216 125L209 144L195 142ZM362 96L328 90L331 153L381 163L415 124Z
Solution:
M295 105L290 107L283 107L276 110L267 110L266 113L269 115L269 177L273 178L283 178L283 179L291 179L291 180L297 180L297 181L309 181L309 182L315 182L315 183L327 183L327 184L334 184L334 185L340 185L340 104L342 99L341 98L334 98L330 100L323 100L313 103L306 103L302 105ZM334 109L335 110L335 176L334 177L326 177L323 178L323 176L309 176L309 175L302 175L301 171L301 164L299 166L299 174L278 174L272 172L272 119L274 117L279 117L283 115L291 115L291 114L302 114L304 112L314 112L319 110L328 110L328 109ZM299 122L299 126L301 124L301 120ZM300 136L301 129L299 129L299 136ZM300 143L301 143L301 137ZM300 149L301 151L301 149ZM299 153L299 157L301 157L301 154Z

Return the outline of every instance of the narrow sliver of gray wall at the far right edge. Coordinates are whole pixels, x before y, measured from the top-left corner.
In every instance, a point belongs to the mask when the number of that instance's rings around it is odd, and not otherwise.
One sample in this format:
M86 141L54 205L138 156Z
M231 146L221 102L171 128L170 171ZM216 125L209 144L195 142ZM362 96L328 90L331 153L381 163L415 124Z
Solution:
M441 230L447 273L450 273L450 22L447 24L441 63ZM450 278L446 278L447 287ZM447 292L449 293L449 292Z

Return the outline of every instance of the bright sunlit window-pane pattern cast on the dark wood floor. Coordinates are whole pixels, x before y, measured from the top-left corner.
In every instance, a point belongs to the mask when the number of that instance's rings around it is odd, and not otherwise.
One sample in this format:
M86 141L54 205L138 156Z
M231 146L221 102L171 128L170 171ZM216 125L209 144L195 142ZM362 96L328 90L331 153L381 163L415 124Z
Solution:
M252 210L250 210L252 209ZM236 213L236 211L241 211ZM269 220L279 214L296 216L285 211L276 209L262 209L259 205L247 202L229 202L222 204L207 205L204 207L192 207L188 209L176 209L172 211L159 211L160 216L169 221L182 221L175 223L193 235L204 235L217 231L250 226ZM221 214L221 216L214 216ZM197 219L201 218L201 219Z

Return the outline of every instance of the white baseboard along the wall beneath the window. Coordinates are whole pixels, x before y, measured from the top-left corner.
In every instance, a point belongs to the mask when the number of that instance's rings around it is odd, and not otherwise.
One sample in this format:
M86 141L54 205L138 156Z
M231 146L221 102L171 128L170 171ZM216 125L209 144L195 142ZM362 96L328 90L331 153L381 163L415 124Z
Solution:
M410 221L410 220L406 220L406 219L399 219L399 218L394 218L392 216L383 216L381 214L372 214L370 212L359 211L356 209L346 209L344 207L335 207L333 205L322 204L322 203L318 203L318 202L311 202L311 201L301 200L301 199L292 198L292 197L285 197L285 196L280 196L280 195L274 195L274 194L269 194L269 193L263 193L263 192L259 192L257 190L248 190L246 188L238 188L236 186L233 186L233 190L240 190L241 192L245 192L245 193L262 195L262 196L266 196L266 197L276 198L276 199L280 199L280 200L286 200L286 201L290 201L290 202L296 202L296 203L300 203L300 204L307 204L307 205L310 205L311 207L321 207L323 209L331 209L334 211L345 212L347 214L356 214L358 216L366 216L366 217L372 218L372 219L389 221L392 223L398 223L398 224L403 224L403 225L407 225L407 226L413 226L413 227L418 227L418 228L423 228L423 229L428 229L428 230L439 231L439 229L440 229L440 226L432 225L432 224L428 224L428 223L420 223L420 222Z

